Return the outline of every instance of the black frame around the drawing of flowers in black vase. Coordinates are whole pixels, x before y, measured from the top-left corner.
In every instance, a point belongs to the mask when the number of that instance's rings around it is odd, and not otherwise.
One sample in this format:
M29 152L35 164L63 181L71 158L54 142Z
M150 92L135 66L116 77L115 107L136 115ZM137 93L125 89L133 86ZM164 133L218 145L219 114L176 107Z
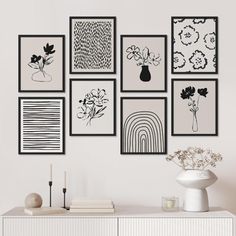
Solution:
M164 73L164 75L163 75L163 80L164 80L164 82L163 82L163 88L162 89L153 89L153 86L152 86L152 88L149 88L149 89L125 89L124 88L124 65L123 65L123 63L124 63L124 61L123 61L123 51L124 51L124 48L123 48L123 46L124 46L124 39L125 38L150 38L150 39L153 39L153 38L157 38L157 39L160 39L160 38L162 38L163 40L164 40L164 49L163 49L163 51L164 51L164 61L163 61L163 63L164 63L164 65L163 65L163 67L164 67L164 69L163 69L163 73ZM132 92L144 92L144 93L152 93L152 92L167 92L167 78L168 78L168 70L167 70L167 62L168 62L168 52L167 52L167 35L161 35L161 34L158 34L158 35L151 35L151 34L146 34L146 35L136 35L136 34L133 34L133 35L131 35L131 34L129 34L129 35L121 35L120 36L120 49L121 49L121 57L120 57L120 76L121 76L121 84L120 84L120 91L121 92L130 92L130 93L132 93ZM138 77L139 77L139 75L138 75ZM145 82L145 83L147 83L147 82Z

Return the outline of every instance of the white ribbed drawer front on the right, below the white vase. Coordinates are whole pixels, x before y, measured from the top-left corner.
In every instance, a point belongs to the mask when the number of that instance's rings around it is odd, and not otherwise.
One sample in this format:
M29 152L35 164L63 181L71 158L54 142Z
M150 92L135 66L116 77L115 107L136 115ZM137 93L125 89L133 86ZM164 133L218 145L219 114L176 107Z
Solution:
M122 218L119 236L233 236L233 219Z

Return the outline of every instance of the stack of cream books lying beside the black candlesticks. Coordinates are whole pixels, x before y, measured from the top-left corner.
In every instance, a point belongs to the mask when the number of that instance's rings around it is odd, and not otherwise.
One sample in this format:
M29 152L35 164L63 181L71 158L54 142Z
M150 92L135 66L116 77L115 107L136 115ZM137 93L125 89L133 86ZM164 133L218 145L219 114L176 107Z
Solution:
M72 200L70 212L73 213L114 213L115 207L111 200Z

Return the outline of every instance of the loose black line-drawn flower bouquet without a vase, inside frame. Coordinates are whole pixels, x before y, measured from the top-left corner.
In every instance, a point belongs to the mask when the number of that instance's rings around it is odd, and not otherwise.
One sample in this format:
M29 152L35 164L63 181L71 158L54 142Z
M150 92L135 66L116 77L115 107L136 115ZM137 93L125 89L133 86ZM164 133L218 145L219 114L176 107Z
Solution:
M106 97L105 89L92 89L89 93L85 94L83 99L79 100L82 105L78 107L77 118L86 120L86 126L91 125L95 118L104 116L104 110L107 108L105 104L109 102Z

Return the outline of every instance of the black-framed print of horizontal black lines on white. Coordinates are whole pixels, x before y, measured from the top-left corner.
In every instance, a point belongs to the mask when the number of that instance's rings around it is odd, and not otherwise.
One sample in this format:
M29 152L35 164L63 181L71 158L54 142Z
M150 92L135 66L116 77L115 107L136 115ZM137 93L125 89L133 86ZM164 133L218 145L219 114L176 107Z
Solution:
M65 101L19 97L19 154L65 154Z

